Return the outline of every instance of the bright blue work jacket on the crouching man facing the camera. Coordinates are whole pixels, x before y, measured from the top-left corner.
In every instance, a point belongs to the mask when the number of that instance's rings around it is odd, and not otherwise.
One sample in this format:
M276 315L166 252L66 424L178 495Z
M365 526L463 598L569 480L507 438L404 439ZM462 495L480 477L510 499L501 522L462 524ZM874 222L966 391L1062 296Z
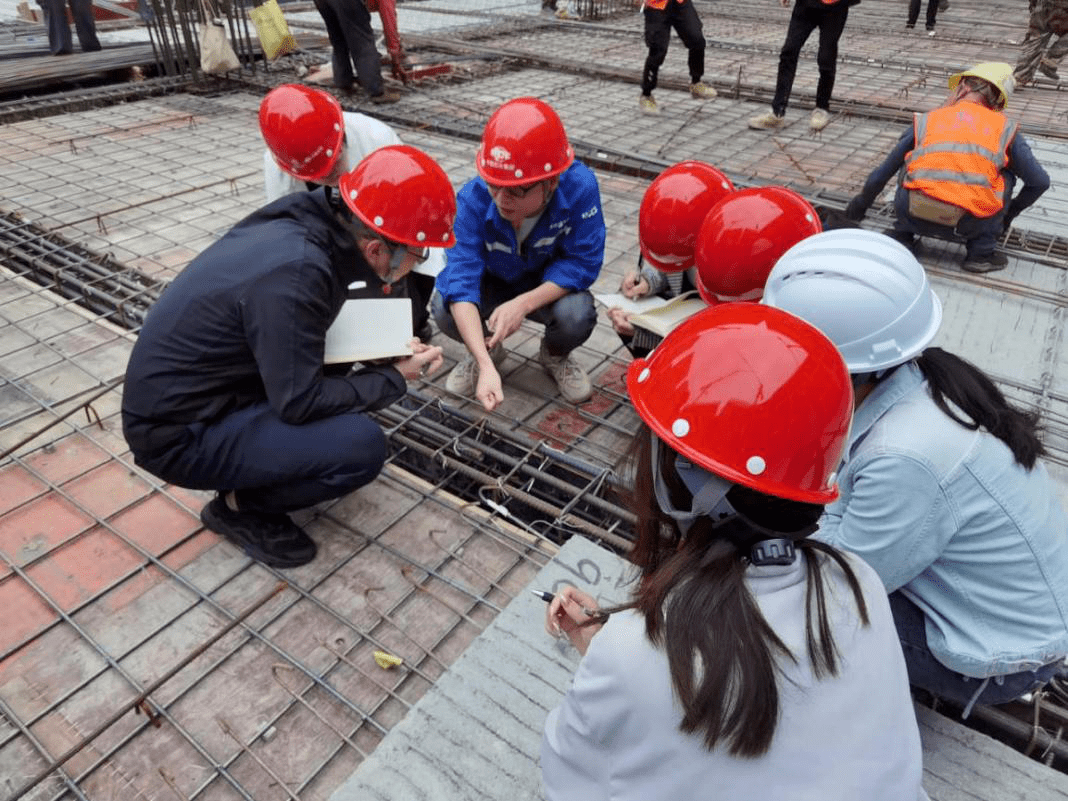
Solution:
M604 262L604 217L597 178L572 163L560 176L549 206L520 252L512 223L497 210L486 182L469 180L456 194L456 245L436 288L446 304L478 303L482 274L525 285L545 281L565 289L588 289Z

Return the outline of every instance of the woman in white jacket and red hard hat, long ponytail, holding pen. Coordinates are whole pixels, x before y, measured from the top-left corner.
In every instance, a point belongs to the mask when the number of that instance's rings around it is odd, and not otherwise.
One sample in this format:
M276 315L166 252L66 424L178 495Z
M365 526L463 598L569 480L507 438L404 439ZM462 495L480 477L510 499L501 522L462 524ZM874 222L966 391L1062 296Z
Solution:
M603 627L574 587L549 604L584 656L546 721L546 799L925 800L879 577L808 537L853 406L834 345L724 303L634 361L627 389L646 424L640 575Z

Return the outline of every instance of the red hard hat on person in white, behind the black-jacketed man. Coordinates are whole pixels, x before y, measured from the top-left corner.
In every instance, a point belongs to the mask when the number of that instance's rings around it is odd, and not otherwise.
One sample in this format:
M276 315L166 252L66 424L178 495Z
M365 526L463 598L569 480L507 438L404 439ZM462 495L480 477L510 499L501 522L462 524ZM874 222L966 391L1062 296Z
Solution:
M345 143L341 104L317 89L285 83L260 104L260 132L278 166L300 180L321 180Z

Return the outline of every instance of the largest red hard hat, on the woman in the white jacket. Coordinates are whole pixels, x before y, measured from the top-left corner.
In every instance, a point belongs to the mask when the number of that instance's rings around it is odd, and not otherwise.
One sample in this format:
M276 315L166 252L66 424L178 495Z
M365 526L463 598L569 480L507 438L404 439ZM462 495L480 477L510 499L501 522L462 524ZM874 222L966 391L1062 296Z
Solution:
M800 317L709 307L631 363L627 390L654 433L705 470L791 501L837 498L852 384L834 344Z

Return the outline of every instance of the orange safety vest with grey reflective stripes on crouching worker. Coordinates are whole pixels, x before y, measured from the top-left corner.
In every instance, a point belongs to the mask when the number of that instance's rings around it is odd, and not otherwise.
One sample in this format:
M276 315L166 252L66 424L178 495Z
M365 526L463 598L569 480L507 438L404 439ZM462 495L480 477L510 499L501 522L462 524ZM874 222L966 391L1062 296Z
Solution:
M1008 148L1017 125L977 103L916 114L915 148L905 157L905 188L992 217L1005 205Z

